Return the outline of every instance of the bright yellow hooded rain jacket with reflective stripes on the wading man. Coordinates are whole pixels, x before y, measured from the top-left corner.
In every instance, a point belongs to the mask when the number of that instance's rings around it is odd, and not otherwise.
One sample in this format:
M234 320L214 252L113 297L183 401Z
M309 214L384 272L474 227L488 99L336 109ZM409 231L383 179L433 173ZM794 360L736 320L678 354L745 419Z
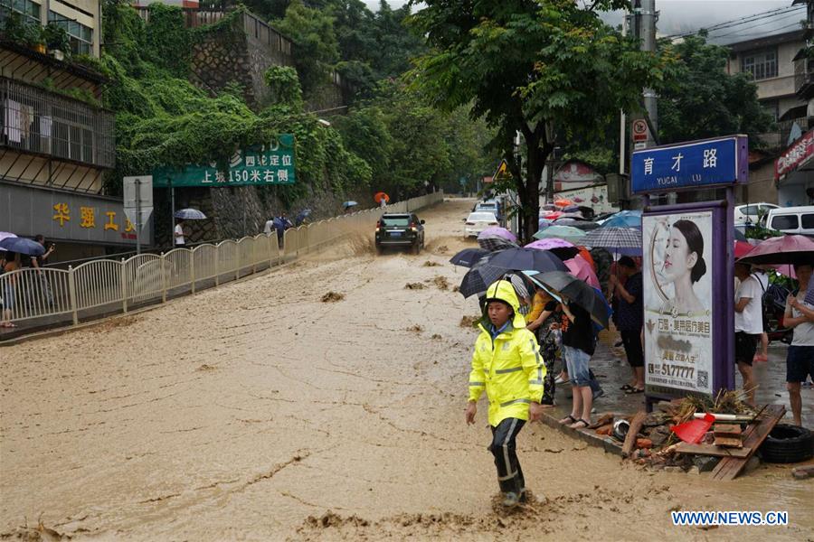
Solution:
M469 373L469 400L477 401L486 389L489 398L489 425L497 426L508 417L528 419L528 406L543 398L545 366L535 334L525 329L512 283L498 280L487 290L487 300L499 299L515 310L506 329L492 340L487 309L478 327L480 335L472 354Z

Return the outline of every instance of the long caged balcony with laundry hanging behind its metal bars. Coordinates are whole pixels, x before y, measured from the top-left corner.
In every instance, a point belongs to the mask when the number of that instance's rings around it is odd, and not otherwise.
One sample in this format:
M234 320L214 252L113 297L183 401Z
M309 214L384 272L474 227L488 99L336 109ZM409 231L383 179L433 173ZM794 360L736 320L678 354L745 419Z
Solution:
M113 113L78 99L0 77L0 149L96 168L113 168Z

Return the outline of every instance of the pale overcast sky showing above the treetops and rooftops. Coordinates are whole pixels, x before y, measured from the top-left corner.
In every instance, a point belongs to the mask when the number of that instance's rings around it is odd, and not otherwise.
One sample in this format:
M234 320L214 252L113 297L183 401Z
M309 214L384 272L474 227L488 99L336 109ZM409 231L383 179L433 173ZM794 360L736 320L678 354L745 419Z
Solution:
M695 31L700 27L733 21L753 14L770 10L789 8L792 0L656 0L658 10L658 33L674 34ZM364 0L372 10L379 7L378 0ZM399 7L404 0L388 0L387 4ZM805 6L784 10L776 14L766 14L759 19L744 22L712 33L712 38L720 42L736 42L766 33L790 32L797 28L800 19L805 19ZM612 24L621 23L621 14L608 14L603 17Z

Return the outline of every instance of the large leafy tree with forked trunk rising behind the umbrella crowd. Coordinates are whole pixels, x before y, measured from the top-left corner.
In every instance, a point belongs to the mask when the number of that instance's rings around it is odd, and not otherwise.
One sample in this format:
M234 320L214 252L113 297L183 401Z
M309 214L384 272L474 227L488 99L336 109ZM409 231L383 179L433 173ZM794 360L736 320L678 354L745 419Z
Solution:
M412 72L412 84L437 107L472 103L497 131L522 211L522 234L537 227L540 179L558 133L601 132L606 111L639 107L643 87L658 88L663 62L639 51L601 22L594 10L624 0L426 0L412 17L431 51ZM525 171L513 139L524 139Z

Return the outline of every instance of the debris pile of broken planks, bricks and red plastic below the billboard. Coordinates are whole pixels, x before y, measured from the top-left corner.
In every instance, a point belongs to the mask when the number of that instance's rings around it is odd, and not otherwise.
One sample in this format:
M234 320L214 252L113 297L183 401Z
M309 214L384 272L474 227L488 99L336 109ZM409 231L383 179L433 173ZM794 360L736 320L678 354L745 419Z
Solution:
M750 460L758 463L754 453L785 414L780 405L755 411L743 398L734 391L719 393L714 401L685 397L660 403L650 414L601 416L592 429L636 463L675 472L712 471L715 480L731 480Z

